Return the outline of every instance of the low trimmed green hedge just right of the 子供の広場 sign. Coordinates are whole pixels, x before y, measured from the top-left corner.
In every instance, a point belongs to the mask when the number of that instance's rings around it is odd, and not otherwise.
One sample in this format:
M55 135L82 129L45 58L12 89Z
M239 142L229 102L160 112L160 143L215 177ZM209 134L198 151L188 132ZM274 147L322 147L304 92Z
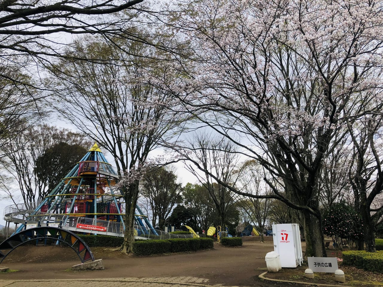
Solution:
M383 273L383 251L343 251L343 264Z

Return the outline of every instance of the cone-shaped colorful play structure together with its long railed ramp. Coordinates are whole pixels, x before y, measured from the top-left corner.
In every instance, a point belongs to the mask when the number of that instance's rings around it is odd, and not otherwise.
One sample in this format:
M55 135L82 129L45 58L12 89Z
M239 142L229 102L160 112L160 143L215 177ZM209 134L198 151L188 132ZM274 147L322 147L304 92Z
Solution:
M75 233L124 236L124 197L116 188L117 181L118 174L95 143L43 201L6 207L6 232L13 222L15 233L60 226ZM191 237L155 230L138 205L134 222L136 238Z

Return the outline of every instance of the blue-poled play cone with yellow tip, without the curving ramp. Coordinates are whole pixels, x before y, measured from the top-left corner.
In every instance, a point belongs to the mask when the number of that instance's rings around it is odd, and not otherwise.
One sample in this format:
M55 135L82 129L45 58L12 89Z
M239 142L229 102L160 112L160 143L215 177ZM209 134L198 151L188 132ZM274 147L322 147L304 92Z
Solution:
M92 230L92 233L106 231L105 225L109 227L113 222L119 229L116 233L121 233L124 230L124 196L115 188L117 180L116 171L95 143L52 192L36 205L32 215L38 214L42 219L42 215L46 215L45 218L49 215L49 222L54 215L61 225ZM138 235L147 233L147 230L155 232L138 206L135 223ZM25 226L21 225L17 232L23 228Z

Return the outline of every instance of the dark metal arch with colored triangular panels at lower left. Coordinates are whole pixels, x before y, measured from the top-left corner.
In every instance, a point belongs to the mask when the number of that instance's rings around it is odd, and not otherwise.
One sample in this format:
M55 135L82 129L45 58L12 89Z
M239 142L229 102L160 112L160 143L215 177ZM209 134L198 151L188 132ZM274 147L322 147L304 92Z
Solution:
M50 236L48 235L48 232L51 234ZM85 263L90 259L92 259L92 261L95 260L92 251L90 251L89 246L75 233L59 227L41 226L22 230L0 243L0 264L5 259L5 257L7 257L13 250L18 248L19 246L33 240L46 239L53 239L55 241L60 241L69 245L79 256L81 263ZM16 244L14 245L13 243ZM2 250L4 249L11 250L7 254L4 254L2 253ZM83 253L83 251L85 252Z

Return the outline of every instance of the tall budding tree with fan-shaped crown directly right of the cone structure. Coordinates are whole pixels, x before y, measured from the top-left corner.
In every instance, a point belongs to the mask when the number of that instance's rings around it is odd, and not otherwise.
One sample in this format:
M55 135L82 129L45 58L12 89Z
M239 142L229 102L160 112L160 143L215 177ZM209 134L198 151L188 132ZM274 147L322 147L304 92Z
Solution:
M164 81L172 77L162 69L160 51L133 41L121 40L118 46L100 38L81 39L69 51L73 60L61 60L51 73L62 91L55 104L62 117L115 158L126 205L124 242L119 250L129 253L139 181L156 164L149 154L160 143L172 140L171 131L181 121L177 101L152 85L154 75ZM75 60L83 54L102 64Z

